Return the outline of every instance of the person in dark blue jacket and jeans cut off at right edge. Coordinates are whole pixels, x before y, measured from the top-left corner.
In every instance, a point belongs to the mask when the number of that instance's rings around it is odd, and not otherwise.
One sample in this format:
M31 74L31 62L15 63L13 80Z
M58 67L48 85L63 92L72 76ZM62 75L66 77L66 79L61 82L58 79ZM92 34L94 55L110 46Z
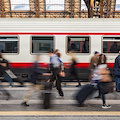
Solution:
M120 92L120 51L119 55L115 58L113 71L115 75L116 91Z

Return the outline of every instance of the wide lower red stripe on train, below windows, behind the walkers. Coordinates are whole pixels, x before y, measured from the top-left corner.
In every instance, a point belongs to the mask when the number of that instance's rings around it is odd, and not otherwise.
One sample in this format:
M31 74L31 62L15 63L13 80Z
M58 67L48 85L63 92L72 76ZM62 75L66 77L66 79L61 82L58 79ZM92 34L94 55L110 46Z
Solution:
M68 66L69 63L64 63L65 67ZM108 68L112 68L114 63L108 63ZM10 63L11 68L29 68L33 65L33 63ZM41 67L47 67L48 63L39 63ZM78 63L76 65L77 68L88 68L89 63Z

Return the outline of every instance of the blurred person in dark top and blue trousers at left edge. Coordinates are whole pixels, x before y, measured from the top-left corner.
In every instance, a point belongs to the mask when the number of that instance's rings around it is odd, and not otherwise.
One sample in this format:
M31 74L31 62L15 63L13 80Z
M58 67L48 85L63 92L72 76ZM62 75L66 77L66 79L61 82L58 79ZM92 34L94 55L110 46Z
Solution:
M4 77L6 81L10 83L10 86L13 86L12 78L6 73L6 70L10 70L9 62L3 58L2 54L0 53L0 74Z

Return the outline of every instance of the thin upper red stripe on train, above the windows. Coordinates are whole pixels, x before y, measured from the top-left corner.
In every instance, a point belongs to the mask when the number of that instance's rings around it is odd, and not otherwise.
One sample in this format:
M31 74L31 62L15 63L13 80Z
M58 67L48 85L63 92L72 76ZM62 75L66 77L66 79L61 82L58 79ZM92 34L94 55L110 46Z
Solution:
M41 33L41 32L0 32L0 35L120 35L120 33Z

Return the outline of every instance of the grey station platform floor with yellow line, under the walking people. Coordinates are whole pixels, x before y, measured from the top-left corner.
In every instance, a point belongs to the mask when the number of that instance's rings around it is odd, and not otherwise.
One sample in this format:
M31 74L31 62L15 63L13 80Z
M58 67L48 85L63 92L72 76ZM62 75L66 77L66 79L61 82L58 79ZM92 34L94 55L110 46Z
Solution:
M101 107L102 100L95 99L98 92L85 101L84 107L79 107L75 100L75 94L81 87L76 87L77 83L62 84L64 92L63 99L56 99L58 92L56 88L52 90L51 107L43 108L43 100L41 91L34 93L28 101L29 107L21 106L22 99L26 91L31 86L25 83L25 87L18 87L18 83L14 83L15 87L8 87L8 83L2 83L4 88L8 90L12 97L10 100L0 95L0 120L118 120L120 118L120 93L113 92L106 95L106 101L112 107L103 109ZM87 84L82 82L82 85Z

